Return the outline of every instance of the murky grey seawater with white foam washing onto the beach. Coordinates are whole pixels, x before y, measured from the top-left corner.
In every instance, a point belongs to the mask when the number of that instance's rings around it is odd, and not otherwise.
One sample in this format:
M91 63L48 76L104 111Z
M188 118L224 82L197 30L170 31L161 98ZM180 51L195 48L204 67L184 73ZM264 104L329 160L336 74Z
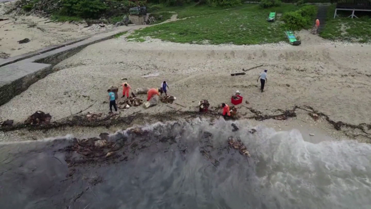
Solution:
M9 160L7 156L5 160L14 167L13 174L5 173L0 180L9 182L17 176L14 172L26 172L15 167L20 163L35 164L32 158L39 159L35 168L39 172L27 170L29 179L22 180L24 184L17 184L18 187L5 183L3 191L9 189L10 193L1 193L0 204L5 208L35 208L49 203L54 204L50 208L69 206L71 209L86 205L88 208L371 208L371 145L355 141L312 144L304 141L297 130L276 132L265 126L252 127L246 120L234 123L239 131L233 132L232 122L223 119L213 123L196 119L144 126L142 130L148 134L143 135L134 135L130 130L116 132L109 135L109 140L127 143L139 138L151 142L173 137L174 142L149 143L141 151L131 153L128 161L85 165L78 169L80 173L76 171L72 181L63 181L68 172L63 158L60 164L51 157L63 157L55 155L53 149L66 144L60 144L60 140L47 145L48 142L39 142L36 147L24 149L19 144L18 151L13 152L18 157ZM249 133L252 128L256 129L254 134ZM226 148L229 136L242 140L251 154L249 161L238 151ZM201 154L200 142L209 146L210 157L219 162L217 165ZM13 148L1 145L0 151ZM48 149L45 152L49 154L35 152L40 149ZM44 153L42 158L41 153ZM0 155L2 163L4 156ZM102 176L103 181L96 185L86 183L89 175ZM36 183L40 185L38 181L42 182L41 189L55 189L35 194L38 190L33 187L40 187L36 186ZM89 189L85 190L86 186ZM20 193L19 188L23 188ZM75 199L73 195L81 189L83 195ZM21 200L9 201L14 199L12 192Z

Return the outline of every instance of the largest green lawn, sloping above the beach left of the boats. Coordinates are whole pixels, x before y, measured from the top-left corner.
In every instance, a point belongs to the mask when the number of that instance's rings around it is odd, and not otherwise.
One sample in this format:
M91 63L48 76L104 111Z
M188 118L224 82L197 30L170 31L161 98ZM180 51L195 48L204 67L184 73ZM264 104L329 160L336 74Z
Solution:
M127 38L142 41L143 37L150 36L179 43L236 45L286 41L283 22L279 21L279 17L276 17L273 23L267 22L267 16L270 11L280 14L296 9L298 8L293 4L282 4L280 7L269 9L260 9L259 5L247 4L228 10L200 6L199 13L183 8L178 14L182 11L186 14L184 16L214 14L144 28Z

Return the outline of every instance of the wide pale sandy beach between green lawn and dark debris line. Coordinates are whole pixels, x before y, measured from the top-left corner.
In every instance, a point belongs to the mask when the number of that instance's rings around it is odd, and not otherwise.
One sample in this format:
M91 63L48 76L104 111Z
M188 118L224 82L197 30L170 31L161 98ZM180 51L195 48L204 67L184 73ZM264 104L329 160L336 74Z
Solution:
M370 123L370 45L329 42L308 31L299 35L303 42L299 47L287 43L192 45L155 39L138 43L127 41L124 36L110 39L60 62L55 66L58 72L2 105L0 119L22 122L42 110L50 113L53 121L90 105L84 113L107 114L106 90L123 83L121 78L127 78L134 92L138 87L159 88L166 80L169 93L177 97L176 102L181 106L161 103L149 109L130 107L121 111L122 116L139 110L148 114L173 109L196 110L202 99L217 107L222 102L230 104L231 95L239 90L244 106L265 114L308 105L334 121ZM257 65L263 67L249 70L246 75L230 75ZM264 69L268 70L268 82L265 92L260 93L256 79ZM142 77L153 73L159 75ZM139 97L145 100L145 95ZM252 114L241 105L239 113ZM308 115L303 113L304 121L305 118ZM329 130L329 135L332 132ZM358 140L367 141L367 138L361 136Z

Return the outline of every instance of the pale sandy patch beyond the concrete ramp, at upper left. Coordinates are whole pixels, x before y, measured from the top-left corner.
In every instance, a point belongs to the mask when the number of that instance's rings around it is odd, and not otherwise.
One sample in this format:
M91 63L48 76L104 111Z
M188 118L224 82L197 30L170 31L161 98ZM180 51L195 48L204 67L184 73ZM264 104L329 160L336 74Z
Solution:
M85 28L86 23L51 22L47 18L19 16L14 12L5 14L12 4L13 2L0 2L0 17L8 19L0 21L0 58L14 57L113 29L113 25L92 25ZM30 39L30 42L18 43L25 38Z

